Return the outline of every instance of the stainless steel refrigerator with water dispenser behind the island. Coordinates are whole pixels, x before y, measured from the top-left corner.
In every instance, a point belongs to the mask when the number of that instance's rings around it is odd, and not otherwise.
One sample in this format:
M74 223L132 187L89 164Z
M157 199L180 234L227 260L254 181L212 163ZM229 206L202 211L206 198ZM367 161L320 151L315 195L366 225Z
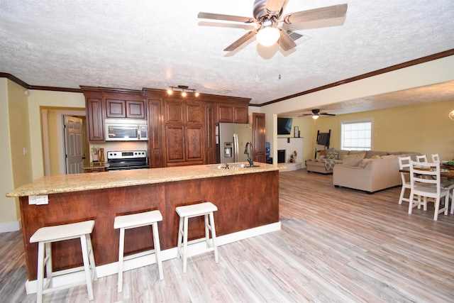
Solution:
M218 163L246 162L245 145L253 142L253 126L247 123L218 123L216 150Z

